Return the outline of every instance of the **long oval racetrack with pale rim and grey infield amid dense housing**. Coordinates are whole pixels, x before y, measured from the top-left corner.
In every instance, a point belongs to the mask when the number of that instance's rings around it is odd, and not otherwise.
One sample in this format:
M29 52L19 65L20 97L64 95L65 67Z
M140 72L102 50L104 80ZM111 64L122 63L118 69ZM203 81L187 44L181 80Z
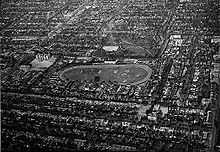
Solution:
M63 80L112 81L119 84L136 85L147 81L152 70L146 65L82 65L65 69L60 73Z

